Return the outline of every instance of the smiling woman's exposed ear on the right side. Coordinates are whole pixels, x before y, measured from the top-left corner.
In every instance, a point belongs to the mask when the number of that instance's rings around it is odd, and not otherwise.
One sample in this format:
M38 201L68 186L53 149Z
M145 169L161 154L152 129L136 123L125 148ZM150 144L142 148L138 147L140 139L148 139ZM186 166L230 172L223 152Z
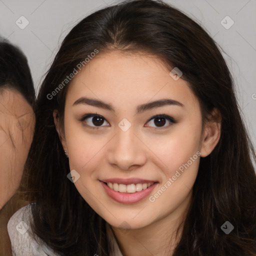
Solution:
M214 108L210 120L205 123L201 140L201 157L209 155L219 141L221 133L221 114Z

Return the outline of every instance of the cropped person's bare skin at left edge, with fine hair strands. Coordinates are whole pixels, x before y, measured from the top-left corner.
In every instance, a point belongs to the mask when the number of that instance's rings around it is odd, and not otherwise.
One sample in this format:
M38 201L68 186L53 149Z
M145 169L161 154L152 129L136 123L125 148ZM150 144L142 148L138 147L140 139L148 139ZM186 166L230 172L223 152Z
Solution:
M19 186L32 142L33 109L16 90L0 93L0 208Z

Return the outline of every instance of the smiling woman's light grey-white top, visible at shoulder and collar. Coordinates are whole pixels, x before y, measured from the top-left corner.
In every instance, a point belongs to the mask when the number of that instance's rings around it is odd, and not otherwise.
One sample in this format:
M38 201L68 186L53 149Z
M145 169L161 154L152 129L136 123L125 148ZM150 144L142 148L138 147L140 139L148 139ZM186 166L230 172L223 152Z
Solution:
M35 237L36 239L33 238L30 228L30 220L32 219L30 205L20 208L8 221L7 229L11 241L12 256L58 255L38 237ZM113 231L107 222L106 236L110 245L109 256L123 256L114 238Z

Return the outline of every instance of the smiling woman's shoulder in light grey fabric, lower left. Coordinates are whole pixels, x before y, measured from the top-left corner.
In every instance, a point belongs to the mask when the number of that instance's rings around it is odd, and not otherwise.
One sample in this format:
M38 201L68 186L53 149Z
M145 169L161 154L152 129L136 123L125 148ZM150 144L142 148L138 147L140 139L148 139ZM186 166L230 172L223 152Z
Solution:
M31 231L31 204L17 210L7 224L13 256L56 255L39 239L34 239ZM38 238L38 237L37 237ZM38 241L37 241L38 240ZM47 254L46 254L47 253Z

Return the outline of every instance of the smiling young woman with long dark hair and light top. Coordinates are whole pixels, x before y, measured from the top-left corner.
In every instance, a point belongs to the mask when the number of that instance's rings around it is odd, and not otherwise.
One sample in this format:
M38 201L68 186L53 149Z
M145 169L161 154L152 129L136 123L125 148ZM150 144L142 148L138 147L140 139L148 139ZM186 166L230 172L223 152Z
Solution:
M256 255L256 157L233 86L212 38L166 3L81 20L37 97L14 255Z

